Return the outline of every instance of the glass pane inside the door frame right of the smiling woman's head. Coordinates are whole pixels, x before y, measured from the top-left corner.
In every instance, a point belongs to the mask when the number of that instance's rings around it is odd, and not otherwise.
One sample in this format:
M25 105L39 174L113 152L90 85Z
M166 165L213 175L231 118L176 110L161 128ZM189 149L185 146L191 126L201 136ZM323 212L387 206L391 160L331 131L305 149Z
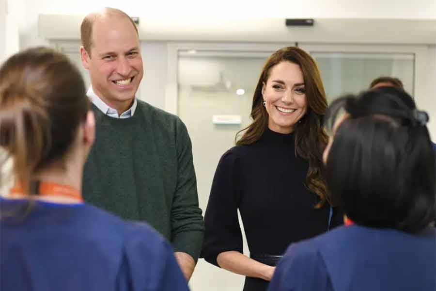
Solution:
M368 89L380 76L399 78L413 95L414 54L311 52L321 71L327 101Z

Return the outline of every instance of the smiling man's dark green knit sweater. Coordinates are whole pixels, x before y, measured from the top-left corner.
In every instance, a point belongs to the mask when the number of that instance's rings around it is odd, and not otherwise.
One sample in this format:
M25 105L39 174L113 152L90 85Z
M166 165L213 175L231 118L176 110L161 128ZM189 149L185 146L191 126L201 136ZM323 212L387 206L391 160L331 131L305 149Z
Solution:
M92 105L96 138L83 175L85 201L125 219L146 221L175 252L196 261L202 210L191 141L175 115L138 100L135 114L112 118Z

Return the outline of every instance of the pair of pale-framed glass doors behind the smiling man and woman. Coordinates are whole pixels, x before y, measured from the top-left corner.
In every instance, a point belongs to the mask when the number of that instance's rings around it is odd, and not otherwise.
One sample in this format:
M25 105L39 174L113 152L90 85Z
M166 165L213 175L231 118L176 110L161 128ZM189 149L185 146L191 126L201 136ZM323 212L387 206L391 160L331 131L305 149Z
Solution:
M288 44L173 43L168 49L166 109L180 116L192 140L200 207L204 211L222 154L251 122L256 82L267 57ZM411 93L425 91L420 47L306 45L321 70L329 101L367 89L380 75L400 78ZM242 222L240 221L242 226ZM249 255L244 238L244 253ZM240 291L244 277L199 259L190 281L194 291Z

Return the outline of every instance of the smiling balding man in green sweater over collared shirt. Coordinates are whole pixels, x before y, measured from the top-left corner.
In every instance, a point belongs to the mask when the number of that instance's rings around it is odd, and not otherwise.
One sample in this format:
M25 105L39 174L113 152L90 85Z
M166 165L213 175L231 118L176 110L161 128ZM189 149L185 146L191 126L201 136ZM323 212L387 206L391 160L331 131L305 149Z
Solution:
M138 29L129 16L105 8L86 16L80 33L96 116L84 198L155 227L171 241L188 280L204 230L187 129L177 116L135 97L143 67Z

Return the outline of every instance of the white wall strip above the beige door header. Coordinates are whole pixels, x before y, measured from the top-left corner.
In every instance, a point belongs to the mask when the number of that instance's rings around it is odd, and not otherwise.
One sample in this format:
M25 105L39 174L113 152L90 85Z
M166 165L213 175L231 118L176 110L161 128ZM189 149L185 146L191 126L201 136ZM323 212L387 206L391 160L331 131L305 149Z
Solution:
M39 14L85 15L102 6L123 9L131 16L164 17L168 22L171 19L189 21L192 17L200 19L200 22L201 19L210 18L249 17L436 19L435 0L278 0L274 4L256 0L161 0L129 1L126 4L114 0L17 1L25 2L25 9L20 13L22 47L46 43L38 37Z

